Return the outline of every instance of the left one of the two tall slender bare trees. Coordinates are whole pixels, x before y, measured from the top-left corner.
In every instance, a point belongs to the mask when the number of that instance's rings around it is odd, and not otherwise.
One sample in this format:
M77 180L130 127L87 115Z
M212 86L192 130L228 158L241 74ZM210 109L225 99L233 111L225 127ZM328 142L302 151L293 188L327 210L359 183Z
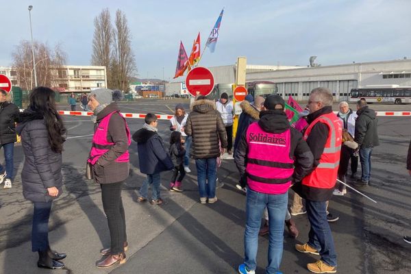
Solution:
M110 64L112 62L111 46L113 38L113 27L111 23L110 11L108 8L102 10L94 20L95 32L92 38L92 57L93 66L105 66L107 71L107 82L111 88Z

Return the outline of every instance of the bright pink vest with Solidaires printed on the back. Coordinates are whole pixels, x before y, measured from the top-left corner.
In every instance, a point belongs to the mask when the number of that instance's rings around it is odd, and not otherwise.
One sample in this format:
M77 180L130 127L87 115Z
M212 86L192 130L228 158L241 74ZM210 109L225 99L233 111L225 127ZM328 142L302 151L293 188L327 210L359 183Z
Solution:
M283 194L291 184L294 160L290 158L291 133L264 132L258 122L247 129L247 184L254 191Z

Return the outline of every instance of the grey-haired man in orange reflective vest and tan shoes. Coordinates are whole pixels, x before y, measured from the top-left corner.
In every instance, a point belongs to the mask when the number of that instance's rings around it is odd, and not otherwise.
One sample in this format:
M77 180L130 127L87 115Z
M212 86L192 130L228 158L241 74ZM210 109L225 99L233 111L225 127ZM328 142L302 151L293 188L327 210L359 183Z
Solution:
M337 256L327 222L327 200L332 197L336 184L343 129L332 112L332 92L328 88L314 88L307 107L310 110L309 125L303 139L314 155L314 165L312 172L301 182L296 182L294 189L306 199L311 229L308 242L295 245L295 249L321 256L321 260L307 264L309 271L336 273Z

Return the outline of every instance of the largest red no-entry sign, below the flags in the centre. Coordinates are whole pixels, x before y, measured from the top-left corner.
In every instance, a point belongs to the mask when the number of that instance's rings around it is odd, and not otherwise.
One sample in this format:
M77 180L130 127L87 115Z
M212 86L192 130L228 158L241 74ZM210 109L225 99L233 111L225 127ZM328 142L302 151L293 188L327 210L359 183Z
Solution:
M187 74L186 87L192 96L207 96L214 88L214 76L203 66L197 66Z

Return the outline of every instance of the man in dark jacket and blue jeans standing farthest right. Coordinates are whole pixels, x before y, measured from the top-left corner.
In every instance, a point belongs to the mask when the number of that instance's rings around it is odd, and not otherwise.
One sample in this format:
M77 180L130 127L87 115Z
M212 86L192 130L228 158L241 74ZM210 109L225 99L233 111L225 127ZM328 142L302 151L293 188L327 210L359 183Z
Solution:
M379 145L377 133L377 114L366 105L366 101L357 102L356 134L354 141L360 148L361 178L356 186L368 186L371 176L371 152Z

